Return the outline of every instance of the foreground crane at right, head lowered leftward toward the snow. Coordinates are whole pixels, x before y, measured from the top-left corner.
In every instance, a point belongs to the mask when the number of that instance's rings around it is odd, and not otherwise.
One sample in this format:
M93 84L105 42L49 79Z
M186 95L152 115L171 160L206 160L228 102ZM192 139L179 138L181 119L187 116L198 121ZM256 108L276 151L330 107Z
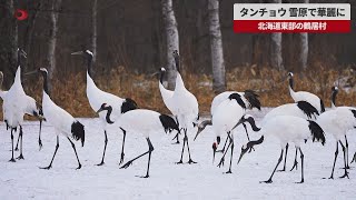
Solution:
M277 140L281 148L280 157L278 159L277 166L273 171L270 178L267 181L264 181L266 183L271 182L271 178L283 159L284 148L287 143L290 143L290 142L294 143L300 152L300 159L301 159L300 182L304 182L304 154L301 152L300 144L306 142L308 139L313 139L313 141L315 140L320 141L323 146L325 143L324 131L316 122L306 120L299 117L294 117L294 116L276 116L269 119L260 128L259 133L261 134L261 138L259 140L250 141L246 146L243 146L239 161L241 160L243 156L248 150L250 150L254 146L260 144L264 141L265 137L266 138L270 137Z

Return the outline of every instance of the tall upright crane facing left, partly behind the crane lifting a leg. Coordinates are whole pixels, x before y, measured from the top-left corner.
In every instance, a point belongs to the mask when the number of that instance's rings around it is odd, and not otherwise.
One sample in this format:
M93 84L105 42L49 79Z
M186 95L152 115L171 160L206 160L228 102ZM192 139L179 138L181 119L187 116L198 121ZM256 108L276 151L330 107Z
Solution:
M125 113L129 110L137 108L137 104L134 100L119 98L112 93L105 92L105 91L100 90L96 86L95 81L91 78L92 77L91 67L92 67L92 57L93 57L91 51L85 50L85 51L73 52L71 54L81 54L87 58L87 61L88 61L88 63L87 63L87 97L89 100L89 104L93 111L99 110L102 103L108 103L112 108L112 113L111 113L112 119L115 121L117 121L116 119L120 118L121 113ZM105 153L106 153L106 148L107 148L107 142L108 142L107 126L109 124L109 122L107 122L106 114L102 112L99 113L99 119L101 121L101 127L105 132L105 147L103 147L102 159L101 159L101 162L98 164L98 166L102 166L105 163L103 159L105 159Z

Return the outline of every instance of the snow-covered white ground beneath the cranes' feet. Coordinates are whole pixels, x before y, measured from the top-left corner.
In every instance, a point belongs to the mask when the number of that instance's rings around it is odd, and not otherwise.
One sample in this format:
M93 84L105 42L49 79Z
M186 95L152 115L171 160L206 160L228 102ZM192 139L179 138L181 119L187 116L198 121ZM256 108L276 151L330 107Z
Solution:
M254 112L257 124L268 109ZM112 128L108 132L106 164L97 167L103 149L103 132L99 130L98 119L79 119L86 126L86 143L76 142L79 159L82 163L76 170L77 160L70 143L60 137L60 143L52 169L47 167L55 151L56 136L53 128L44 123L42 132L43 148L39 151L39 122L26 122L23 126L24 160L8 162L11 158L10 132L1 122L0 126L0 199L356 199L356 170L350 164L349 179L338 179L343 174L342 150L336 163L335 180L328 178L335 151L335 140L326 136L326 144L308 141L301 146L305 153L305 183L300 180L300 162L297 171L289 172L293 166L295 149L289 148L287 172L276 172L270 184L259 183L267 180L277 163L280 147L277 142L266 140L256 146L256 151L247 153L239 166L240 147L247 142L243 128L235 131L235 158L233 174L228 170L229 153L225 166L218 168L221 153L217 153L212 164L211 144L215 133L207 128L196 141L190 141L192 159L196 164L176 164L179 161L181 146L171 144L172 134L157 133L151 136L155 147L151 158L150 178L145 176L148 157L144 157L128 169L119 169L119 153L122 133ZM283 131L283 130L280 130ZM16 134L17 139L18 134ZM190 133L190 138L192 138ZM250 131L256 140L258 133ZM356 134L349 132L349 160L356 150ZM222 139L224 143L225 137ZM222 144L220 144L222 146ZM127 133L125 161L148 150L146 140L137 133ZM14 157L18 157L16 152ZM299 158L298 158L299 159ZM185 158L185 162L188 158ZM298 160L299 161L299 160ZM279 166L281 169L283 164Z

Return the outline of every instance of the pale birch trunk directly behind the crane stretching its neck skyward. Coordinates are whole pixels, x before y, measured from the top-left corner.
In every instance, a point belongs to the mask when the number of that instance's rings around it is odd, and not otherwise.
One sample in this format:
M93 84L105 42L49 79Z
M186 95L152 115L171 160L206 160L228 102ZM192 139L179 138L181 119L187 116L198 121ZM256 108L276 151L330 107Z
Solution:
M175 67L175 59L172 56L174 50L178 50L179 52L179 36L178 36L178 24L175 17L175 11L172 8L172 0L161 0L162 7L162 16L165 21L166 28L166 38L167 38L167 48L166 48L166 56L167 56L167 81L168 88L175 88L176 81L176 67Z

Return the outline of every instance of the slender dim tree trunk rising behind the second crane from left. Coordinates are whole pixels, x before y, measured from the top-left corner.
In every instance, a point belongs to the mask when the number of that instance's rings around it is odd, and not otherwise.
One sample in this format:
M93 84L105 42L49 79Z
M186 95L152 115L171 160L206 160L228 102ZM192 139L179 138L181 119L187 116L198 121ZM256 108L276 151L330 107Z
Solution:
M49 63L48 78L49 78L49 91L51 92L51 80L56 71L56 46L57 46L57 31L58 31L58 10L60 8L61 0L52 0L52 7L50 12L51 29L48 41L48 54L47 60Z

